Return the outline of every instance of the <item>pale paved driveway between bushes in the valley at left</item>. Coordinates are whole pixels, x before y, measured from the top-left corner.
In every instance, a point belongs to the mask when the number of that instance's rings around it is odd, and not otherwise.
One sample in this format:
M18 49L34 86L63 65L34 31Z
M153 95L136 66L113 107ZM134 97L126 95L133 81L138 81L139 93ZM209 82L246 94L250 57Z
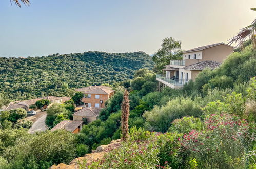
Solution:
M34 115L34 116L36 116L36 115ZM29 129L28 133L33 134L35 132L46 131L48 129L48 127L45 125L46 116L47 116L46 112L41 112L39 117L37 116L33 119L30 119L30 121L33 121L33 122L35 121L35 119L37 119L37 120L33 123L32 127ZM33 116L31 116L31 117L33 117ZM31 118L31 117L27 117L27 118Z

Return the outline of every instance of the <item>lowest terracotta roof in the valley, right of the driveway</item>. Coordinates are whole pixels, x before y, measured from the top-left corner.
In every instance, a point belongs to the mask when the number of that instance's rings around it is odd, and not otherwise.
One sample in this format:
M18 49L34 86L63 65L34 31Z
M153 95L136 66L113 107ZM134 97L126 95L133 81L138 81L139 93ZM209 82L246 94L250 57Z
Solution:
M55 131L55 130L58 130L58 129L65 129L69 132L73 132L82 123L83 123L83 121L64 120L64 121L58 123L57 125L55 125L54 128L51 129L51 131Z

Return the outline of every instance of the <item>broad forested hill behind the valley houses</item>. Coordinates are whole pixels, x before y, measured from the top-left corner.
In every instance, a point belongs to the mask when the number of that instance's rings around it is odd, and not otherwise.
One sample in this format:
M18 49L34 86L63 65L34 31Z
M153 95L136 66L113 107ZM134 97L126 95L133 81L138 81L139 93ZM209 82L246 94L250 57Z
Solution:
M152 68L144 52L85 52L42 57L0 58L0 93L12 100L43 94L61 95L69 88L120 82L140 68Z

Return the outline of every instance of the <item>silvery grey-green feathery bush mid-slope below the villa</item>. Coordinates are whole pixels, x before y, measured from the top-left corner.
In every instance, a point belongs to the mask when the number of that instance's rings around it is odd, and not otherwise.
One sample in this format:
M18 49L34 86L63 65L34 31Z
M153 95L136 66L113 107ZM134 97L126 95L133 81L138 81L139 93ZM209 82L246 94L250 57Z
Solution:
M164 133L173 120L183 116L199 117L201 114L198 102L192 101L191 98L177 97L161 108L156 106L151 111L146 111L143 117L146 118L146 130Z

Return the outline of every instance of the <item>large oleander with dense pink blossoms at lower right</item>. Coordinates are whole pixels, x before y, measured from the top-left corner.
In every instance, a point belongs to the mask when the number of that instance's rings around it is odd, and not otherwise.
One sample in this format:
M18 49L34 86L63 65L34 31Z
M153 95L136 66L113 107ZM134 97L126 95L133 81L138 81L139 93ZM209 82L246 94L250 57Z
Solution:
M246 153L255 141L247 121L238 115L211 114L206 116L205 124L206 131L192 130L183 136L184 150L202 168L243 168Z

